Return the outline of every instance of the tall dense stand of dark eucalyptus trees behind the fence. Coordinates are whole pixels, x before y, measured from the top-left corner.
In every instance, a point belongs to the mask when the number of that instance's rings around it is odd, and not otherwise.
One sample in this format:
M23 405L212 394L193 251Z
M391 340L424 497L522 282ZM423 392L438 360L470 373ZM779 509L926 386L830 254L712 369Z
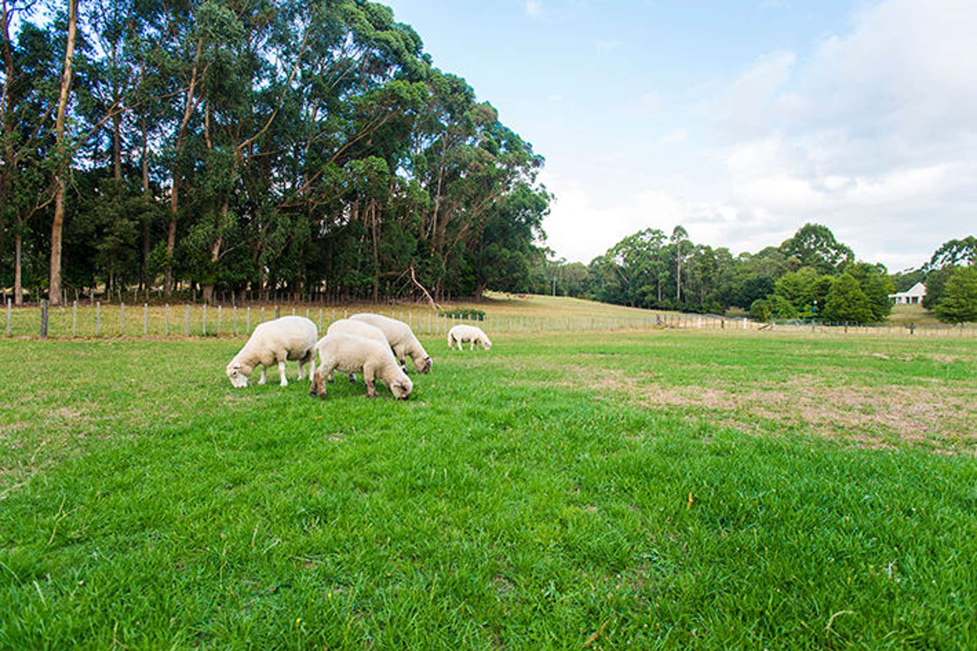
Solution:
M524 290L542 158L361 0L4 0L0 286Z

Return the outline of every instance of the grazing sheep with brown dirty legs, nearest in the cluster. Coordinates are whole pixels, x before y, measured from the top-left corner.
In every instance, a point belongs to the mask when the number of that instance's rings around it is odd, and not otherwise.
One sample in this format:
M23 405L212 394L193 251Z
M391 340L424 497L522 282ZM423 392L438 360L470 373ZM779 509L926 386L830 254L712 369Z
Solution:
M312 396L325 398L325 378L337 369L345 373L362 373L367 397L376 396L375 379L383 381L395 398L406 400L410 395L413 384L398 366L386 343L334 333L323 337L316 349L319 350L319 370L309 391Z

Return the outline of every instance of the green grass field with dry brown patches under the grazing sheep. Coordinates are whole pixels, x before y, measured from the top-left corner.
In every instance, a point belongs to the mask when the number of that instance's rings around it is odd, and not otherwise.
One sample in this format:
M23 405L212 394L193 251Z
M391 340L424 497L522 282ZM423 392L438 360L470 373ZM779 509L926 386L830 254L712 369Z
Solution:
M0 649L977 648L977 341L242 341L0 341Z

